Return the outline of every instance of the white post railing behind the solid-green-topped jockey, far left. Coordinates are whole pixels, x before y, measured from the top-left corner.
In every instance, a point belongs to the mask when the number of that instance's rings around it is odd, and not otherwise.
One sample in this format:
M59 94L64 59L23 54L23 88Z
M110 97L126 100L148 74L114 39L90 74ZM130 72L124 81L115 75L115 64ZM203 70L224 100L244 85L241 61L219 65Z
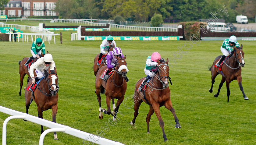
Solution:
M60 35L60 34L43 34L43 33L11 33L11 32L7 32L5 34L8 34L9 35L9 41L11 41L11 36L13 34L17 34L18 36L18 42L20 42L20 35L22 35L22 42L24 42L24 39L25 38L25 41L27 40L28 42L28 35L30 35L30 41L34 41L33 39L33 36L35 37L35 40L36 38L38 37L41 37L42 41L48 41L48 43L50 44L50 41L52 40L52 36L54 37L54 44L56 44L55 42L55 36L56 35ZM14 42L14 39L13 39L13 42Z

